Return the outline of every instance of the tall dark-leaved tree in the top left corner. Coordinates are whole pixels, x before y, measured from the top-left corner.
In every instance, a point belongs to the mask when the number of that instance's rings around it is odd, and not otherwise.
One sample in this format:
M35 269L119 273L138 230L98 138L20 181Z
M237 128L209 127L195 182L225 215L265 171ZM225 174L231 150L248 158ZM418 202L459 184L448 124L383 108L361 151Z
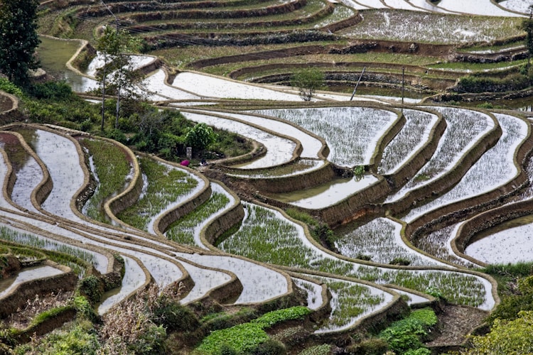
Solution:
M28 87L29 70L39 65L38 5L38 0L0 1L0 71L18 87Z

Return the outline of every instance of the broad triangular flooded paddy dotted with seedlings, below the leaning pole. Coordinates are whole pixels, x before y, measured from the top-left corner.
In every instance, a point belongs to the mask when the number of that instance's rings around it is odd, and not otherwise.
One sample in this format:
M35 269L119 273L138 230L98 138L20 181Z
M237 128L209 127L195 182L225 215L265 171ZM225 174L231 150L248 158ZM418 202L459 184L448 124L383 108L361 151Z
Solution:
M328 160L343 166L367 165L382 135L397 114L370 107L323 107L316 109L271 109L256 111L298 124L325 138Z

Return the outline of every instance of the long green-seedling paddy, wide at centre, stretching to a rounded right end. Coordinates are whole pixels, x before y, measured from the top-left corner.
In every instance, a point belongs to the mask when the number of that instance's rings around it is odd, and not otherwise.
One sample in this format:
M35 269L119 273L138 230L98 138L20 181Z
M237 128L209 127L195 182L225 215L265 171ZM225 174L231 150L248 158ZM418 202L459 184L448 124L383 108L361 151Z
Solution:
M341 259L318 248L307 239L301 226L284 219L280 212L254 204L248 204L247 209L247 218L239 231L220 243L223 251L272 265L321 271L376 283L393 283L420 292L430 287L436 288L451 302L474 305L485 310L494 305L492 285L478 275L431 269L383 268ZM276 253L271 253L272 250Z

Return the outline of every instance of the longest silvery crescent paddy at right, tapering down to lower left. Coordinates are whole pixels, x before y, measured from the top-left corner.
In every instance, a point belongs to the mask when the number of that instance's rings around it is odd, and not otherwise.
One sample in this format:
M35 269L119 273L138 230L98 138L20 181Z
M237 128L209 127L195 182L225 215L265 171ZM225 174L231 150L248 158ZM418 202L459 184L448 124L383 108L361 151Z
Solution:
M452 190L429 203L411 209L404 217L405 221L411 222L438 207L494 190L517 175L518 168L514 157L517 148L527 137L528 124L515 116L495 116L503 131L496 145L483 154Z

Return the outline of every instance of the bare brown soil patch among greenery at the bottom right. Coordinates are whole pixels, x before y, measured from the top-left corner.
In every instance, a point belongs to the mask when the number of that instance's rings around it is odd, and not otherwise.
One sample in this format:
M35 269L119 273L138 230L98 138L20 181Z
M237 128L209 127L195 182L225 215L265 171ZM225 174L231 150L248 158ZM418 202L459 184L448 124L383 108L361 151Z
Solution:
M475 307L446 305L438 315L439 332L427 346L463 344L466 335L483 324L488 312Z

